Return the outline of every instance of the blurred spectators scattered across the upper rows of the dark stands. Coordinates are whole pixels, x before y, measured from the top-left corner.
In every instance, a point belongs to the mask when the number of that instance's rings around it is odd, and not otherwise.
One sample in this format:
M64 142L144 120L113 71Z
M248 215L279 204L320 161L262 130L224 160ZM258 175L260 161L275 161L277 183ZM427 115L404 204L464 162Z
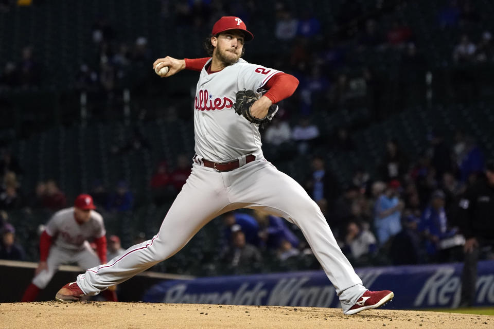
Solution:
M420 49L421 43L417 42L425 36L414 31L399 14L409 5L405 0L376 0L374 6L364 11L361 5L347 0L335 16L336 22L324 22L315 9L296 11L284 2L276 2L274 26L268 34L276 40L280 52L275 58L267 57L268 62L263 64L290 72L301 82L293 106L297 113L313 114L321 104L325 104L324 110L328 111L363 98L372 107L375 117L382 119L386 113L381 103L384 89L390 87L386 82L390 77L385 77L384 72L377 71L372 62L361 57L368 56L369 51L394 53L400 58L400 71L407 74L421 71L430 63L432 54L427 53L430 50ZM477 32L488 20L480 8L468 0L451 0L435 13L435 22L430 24L440 27L444 33L457 35L457 44L449 45L451 57L444 57L444 64L494 63L491 31ZM262 10L259 2L253 0L161 1L161 19L173 22L178 29L191 28L193 33L203 36L221 15L237 15L249 26ZM391 24L384 22L386 15L391 17ZM77 63L79 72L70 75L74 77L72 87L107 100L117 97L117 91L124 86L131 86L136 96L154 90L156 80L148 69L149 63L165 54L155 53L156 47L149 44L146 35L128 40L119 33L118 24L104 15L94 19L91 40L87 40L92 49L91 57ZM201 53L187 56L194 55L201 56ZM26 45L19 59L1 63L0 90L39 87L43 76L50 73L46 72L47 64L37 59L36 49ZM411 79L409 76L403 83ZM404 95L410 93L401 89Z

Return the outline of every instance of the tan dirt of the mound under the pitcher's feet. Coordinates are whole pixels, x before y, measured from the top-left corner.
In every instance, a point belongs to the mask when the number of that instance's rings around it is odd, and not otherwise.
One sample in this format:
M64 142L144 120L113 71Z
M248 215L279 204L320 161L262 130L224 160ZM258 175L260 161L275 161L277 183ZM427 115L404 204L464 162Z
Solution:
M0 328L492 328L494 316L341 309L112 302L0 304Z

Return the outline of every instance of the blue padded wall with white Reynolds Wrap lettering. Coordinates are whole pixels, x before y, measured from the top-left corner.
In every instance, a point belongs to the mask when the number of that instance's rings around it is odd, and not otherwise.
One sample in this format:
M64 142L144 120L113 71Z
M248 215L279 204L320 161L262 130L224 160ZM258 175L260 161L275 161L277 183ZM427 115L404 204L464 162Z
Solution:
M463 264L357 269L371 290L393 290L384 308L456 307ZM323 271L166 281L151 287L145 302L340 307ZM494 305L494 261L479 262L475 305Z

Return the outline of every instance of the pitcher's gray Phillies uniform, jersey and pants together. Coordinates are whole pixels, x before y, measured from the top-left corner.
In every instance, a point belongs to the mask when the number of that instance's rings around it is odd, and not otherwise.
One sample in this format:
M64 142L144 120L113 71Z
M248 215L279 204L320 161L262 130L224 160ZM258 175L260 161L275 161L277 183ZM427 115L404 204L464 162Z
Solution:
M77 277L86 295L95 295L171 257L222 213L252 208L284 217L301 228L336 288L343 310L357 302L366 289L341 252L319 207L295 180L264 159L257 125L233 109L238 90L259 92L277 72L243 59L211 74L202 69L194 102L197 155L186 184L153 239ZM256 159L246 163L245 157L250 154ZM240 168L228 172L217 172L203 162L232 159L239 160Z

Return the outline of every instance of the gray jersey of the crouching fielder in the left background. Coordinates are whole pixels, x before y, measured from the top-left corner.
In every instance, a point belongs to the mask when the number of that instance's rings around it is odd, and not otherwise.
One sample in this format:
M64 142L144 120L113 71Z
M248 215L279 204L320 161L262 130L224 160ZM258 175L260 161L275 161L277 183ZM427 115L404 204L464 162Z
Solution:
M54 237L54 244L70 250L83 250L84 242L97 239L107 232L104 229L103 217L91 210L91 218L82 225L76 222L74 207L56 212L48 224L46 233Z

